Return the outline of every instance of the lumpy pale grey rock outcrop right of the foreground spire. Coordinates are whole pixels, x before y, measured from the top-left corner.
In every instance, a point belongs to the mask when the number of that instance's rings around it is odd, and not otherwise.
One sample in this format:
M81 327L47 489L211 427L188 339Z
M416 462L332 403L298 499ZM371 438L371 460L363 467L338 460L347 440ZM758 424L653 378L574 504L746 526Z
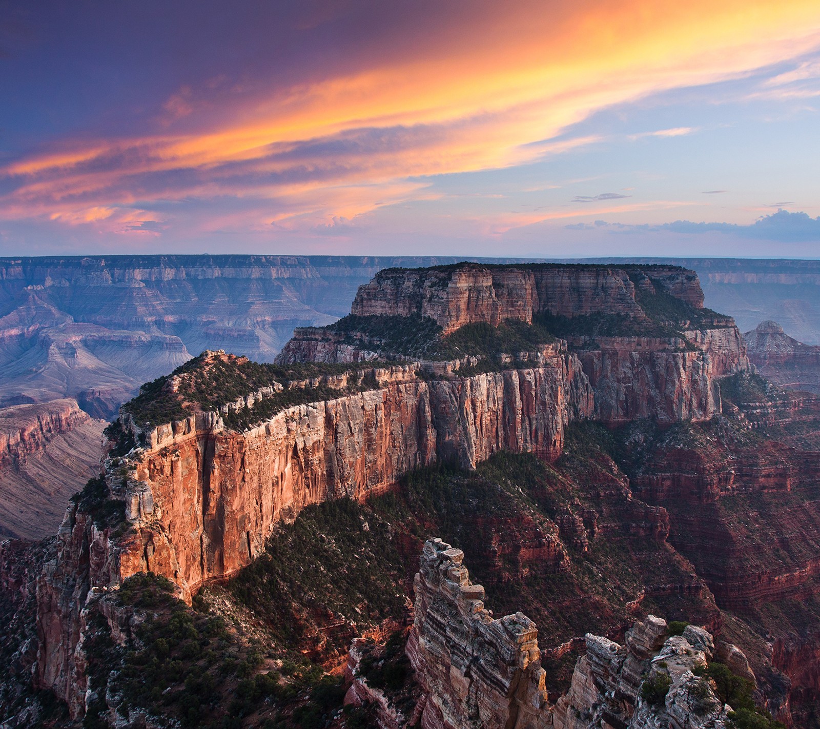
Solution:
M586 636L572 686L555 706L556 729L724 729L731 707L717 697L705 667L714 653L712 636L687 626L668 636L667 624L650 615L626 632L626 645ZM666 687L649 694L645 684Z

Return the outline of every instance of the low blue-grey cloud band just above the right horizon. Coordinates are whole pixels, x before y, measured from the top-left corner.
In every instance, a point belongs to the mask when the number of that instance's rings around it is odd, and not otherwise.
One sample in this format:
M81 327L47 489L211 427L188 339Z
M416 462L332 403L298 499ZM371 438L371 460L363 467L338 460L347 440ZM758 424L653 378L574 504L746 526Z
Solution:
M659 226L641 225L631 226L624 223L609 223L595 221L594 225L576 223L565 226L567 230L595 230L608 228L622 233L646 233L668 231L687 235L703 233L725 233L740 238L772 240L779 243L810 243L820 242L820 216L813 218L805 212L788 212L778 210L771 215L758 218L749 226L740 226L736 223L674 221Z

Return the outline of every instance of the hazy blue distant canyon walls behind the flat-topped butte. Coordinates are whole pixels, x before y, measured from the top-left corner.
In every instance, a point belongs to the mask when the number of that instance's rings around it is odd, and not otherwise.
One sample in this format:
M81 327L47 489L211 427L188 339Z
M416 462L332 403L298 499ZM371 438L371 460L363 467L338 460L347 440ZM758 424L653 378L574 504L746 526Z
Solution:
M139 385L168 374L205 349L270 362L294 328L326 325L344 316L358 286L367 284L377 271L457 260L239 255L0 258L0 409L68 398L91 417L112 420ZM740 317L743 326L777 319L804 341L820 342L820 326L815 331L811 324L811 312L818 310L813 297L820 280L813 263L682 263L699 273L706 303ZM571 271L567 268L567 280L556 281L553 292L572 290L577 272ZM474 296L483 295L471 290ZM448 295L454 301L452 293ZM516 295L516 289L508 291L508 296ZM631 306L628 299L627 295L621 302L626 308ZM620 311L621 304L614 298L612 303L613 311ZM567 299L550 306L560 312L562 306L582 308L584 303ZM497 321L498 316L490 318ZM623 380L622 385L628 382ZM617 404L608 406L613 418L621 420L632 417L635 408L640 408L640 398L626 403L625 412L618 412ZM50 490L47 472L40 476L33 469L26 483L35 490ZM9 493L25 498L22 485ZM46 535L52 523L36 536ZM13 531L11 523L2 520L0 529Z

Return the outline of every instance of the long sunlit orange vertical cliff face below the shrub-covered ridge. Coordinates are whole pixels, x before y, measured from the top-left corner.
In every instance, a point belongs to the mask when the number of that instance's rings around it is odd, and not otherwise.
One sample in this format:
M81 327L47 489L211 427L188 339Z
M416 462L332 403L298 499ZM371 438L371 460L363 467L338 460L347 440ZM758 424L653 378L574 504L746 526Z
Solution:
M307 504L365 499L414 468L474 468L502 449L558 458L564 426L590 407L577 364L558 357L554 367L399 381L288 408L244 433L196 418L134 463L124 498L141 544L127 571L167 574L187 593L244 567Z

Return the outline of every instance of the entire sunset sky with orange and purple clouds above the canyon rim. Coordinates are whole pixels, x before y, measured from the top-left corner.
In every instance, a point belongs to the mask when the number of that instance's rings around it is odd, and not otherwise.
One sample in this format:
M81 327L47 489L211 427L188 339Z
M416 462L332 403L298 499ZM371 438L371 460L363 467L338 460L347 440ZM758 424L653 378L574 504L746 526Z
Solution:
M820 257L817 0L0 0L0 256Z

